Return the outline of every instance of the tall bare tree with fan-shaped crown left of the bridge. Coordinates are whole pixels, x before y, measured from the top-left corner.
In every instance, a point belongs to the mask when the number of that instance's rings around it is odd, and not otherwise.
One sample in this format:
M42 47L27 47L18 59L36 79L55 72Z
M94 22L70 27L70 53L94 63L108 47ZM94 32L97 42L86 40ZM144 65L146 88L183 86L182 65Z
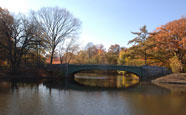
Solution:
M64 42L67 38L77 35L81 23L66 9L58 7L44 7L38 12L33 11L32 14L38 25L42 27L44 38L50 49L50 64L52 64L58 44Z

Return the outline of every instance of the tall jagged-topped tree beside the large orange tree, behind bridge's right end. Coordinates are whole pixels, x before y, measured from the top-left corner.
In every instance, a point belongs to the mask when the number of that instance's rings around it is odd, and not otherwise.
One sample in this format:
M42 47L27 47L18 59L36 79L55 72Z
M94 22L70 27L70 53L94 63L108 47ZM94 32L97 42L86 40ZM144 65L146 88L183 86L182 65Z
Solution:
M140 53L144 54L145 57L145 65L147 65L147 44L146 40L148 38L148 31L146 25L140 28L140 32L132 32L132 34L137 35L133 40L130 40L128 44L134 43L135 50L138 50ZM137 47L136 47L137 46ZM139 47L142 46L142 47ZM140 50L139 50L140 49Z

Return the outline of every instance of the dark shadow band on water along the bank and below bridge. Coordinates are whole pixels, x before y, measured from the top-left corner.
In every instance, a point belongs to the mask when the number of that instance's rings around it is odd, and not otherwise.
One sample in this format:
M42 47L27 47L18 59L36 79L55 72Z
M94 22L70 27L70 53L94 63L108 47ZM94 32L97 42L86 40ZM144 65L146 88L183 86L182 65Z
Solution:
M76 78L75 78L76 79ZM79 79L78 79L79 80ZM82 83L78 83L77 79L60 79L60 80L0 80L0 92L4 91L19 91L19 88L30 88L30 89L38 89L39 86L44 86L50 90L77 90L77 91L124 91L126 93L142 93L142 94L170 94L170 91L166 88L159 87L152 83L135 83L130 87L125 84L123 87L117 86L116 83L113 83L113 79L108 79L103 81L103 79L98 80L98 87L87 86ZM115 79L114 79L115 80ZM82 80L83 81L83 80ZM85 80L87 82L87 80ZM92 84L95 84L95 79L90 80ZM90 82L88 81L88 82ZM110 82L111 84L107 84L106 82ZM84 82L84 81L83 81ZM106 83L106 86L109 87L100 87L100 82L103 84ZM117 81L116 81L117 82ZM91 83L90 83L91 84ZM114 87L112 87L114 86Z

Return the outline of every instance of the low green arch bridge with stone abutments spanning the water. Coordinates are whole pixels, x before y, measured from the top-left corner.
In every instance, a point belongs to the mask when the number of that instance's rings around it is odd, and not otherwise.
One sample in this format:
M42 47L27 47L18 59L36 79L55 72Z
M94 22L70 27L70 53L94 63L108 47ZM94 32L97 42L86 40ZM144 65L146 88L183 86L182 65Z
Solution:
M152 80L171 73L167 68L158 66L52 64L47 65L47 69L59 72L59 77L73 77L74 74L85 70L120 70L136 74L140 80Z

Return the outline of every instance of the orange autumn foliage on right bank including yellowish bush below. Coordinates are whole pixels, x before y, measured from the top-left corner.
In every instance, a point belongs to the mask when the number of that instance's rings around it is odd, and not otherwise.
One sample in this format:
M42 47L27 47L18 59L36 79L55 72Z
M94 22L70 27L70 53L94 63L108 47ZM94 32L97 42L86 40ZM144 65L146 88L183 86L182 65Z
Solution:
M143 43L132 46L131 51L140 52L146 49L148 65L170 67L172 70L184 71L186 64L186 18L169 22L149 33ZM142 52L142 51L141 51ZM143 58L142 55L138 55ZM137 57L137 55L135 55ZM182 66L183 65L183 66Z

